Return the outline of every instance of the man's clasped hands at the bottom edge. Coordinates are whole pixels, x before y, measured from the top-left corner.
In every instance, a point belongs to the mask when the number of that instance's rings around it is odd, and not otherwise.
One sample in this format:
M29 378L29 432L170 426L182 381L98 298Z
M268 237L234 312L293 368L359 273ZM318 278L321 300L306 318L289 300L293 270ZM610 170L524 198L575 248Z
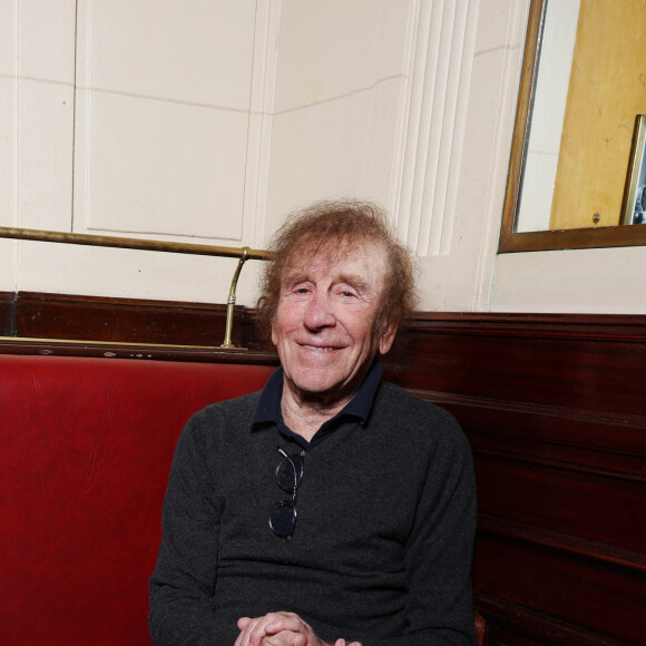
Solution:
M241 617L234 646L332 646L294 613L270 613L264 617ZM361 646L359 642L336 639L334 646Z

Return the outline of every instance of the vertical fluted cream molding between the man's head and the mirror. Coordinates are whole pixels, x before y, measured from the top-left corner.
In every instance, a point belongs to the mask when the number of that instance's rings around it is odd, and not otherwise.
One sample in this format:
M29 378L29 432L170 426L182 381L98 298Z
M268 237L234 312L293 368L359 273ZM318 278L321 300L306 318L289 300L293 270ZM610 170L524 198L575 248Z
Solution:
M401 239L420 257L451 251L458 176L476 49L478 2L411 2L402 86L401 184L394 190Z

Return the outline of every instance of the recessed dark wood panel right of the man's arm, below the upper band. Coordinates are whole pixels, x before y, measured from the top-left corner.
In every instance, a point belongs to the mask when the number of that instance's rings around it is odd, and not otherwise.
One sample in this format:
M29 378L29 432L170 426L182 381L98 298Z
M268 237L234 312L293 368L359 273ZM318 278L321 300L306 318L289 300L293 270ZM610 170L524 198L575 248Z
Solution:
M512 521L546 540L551 536L555 545L562 540L572 551L575 546L568 539L576 537L576 550L590 556L611 546L615 558L623 550L625 562L646 574L646 559L640 555L646 536L640 518L646 481L585 469L574 461L536 462L523 454L476 452L484 493L480 513L491 523L496 519Z

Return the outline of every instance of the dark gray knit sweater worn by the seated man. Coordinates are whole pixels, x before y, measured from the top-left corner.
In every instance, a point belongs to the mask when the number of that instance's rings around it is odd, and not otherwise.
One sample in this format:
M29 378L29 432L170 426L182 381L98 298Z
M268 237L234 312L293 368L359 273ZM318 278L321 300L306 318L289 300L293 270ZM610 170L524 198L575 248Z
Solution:
M157 646L233 646L241 616L287 610L329 642L474 644L476 488L454 419L382 383L364 425L339 428L305 457L296 530L267 520L288 496L274 424L249 428L258 393L207 407L179 439L150 580Z

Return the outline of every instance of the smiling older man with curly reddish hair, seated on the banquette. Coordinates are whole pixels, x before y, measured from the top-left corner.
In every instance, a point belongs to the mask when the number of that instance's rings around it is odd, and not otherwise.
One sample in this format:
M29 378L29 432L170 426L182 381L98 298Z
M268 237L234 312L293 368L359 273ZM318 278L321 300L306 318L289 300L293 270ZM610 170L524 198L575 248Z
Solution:
M473 644L469 447L378 360L412 309L410 252L363 203L319 203L272 248L258 313L281 368L182 433L155 644Z

